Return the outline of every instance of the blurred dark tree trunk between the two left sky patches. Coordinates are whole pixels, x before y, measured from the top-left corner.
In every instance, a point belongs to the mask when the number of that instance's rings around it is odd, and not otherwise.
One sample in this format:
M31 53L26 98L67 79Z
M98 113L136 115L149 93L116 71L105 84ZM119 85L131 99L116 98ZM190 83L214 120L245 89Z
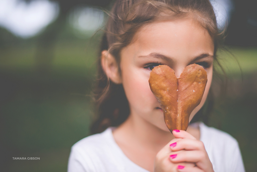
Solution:
M33 0L26 0L33 1ZM65 27L69 12L79 5L107 7L111 0L55 0L59 3L59 16L37 38L36 71L40 76L47 74L54 56L54 45L58 34Z

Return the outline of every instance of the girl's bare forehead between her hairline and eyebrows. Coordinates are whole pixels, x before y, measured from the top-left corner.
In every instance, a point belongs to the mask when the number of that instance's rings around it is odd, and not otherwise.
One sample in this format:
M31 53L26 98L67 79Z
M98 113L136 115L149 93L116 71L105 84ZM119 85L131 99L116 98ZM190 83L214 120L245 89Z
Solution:
M135 35L135 48L158 50L206 49L213 53L214 42L208 31L194 19L156 21L143 26Z

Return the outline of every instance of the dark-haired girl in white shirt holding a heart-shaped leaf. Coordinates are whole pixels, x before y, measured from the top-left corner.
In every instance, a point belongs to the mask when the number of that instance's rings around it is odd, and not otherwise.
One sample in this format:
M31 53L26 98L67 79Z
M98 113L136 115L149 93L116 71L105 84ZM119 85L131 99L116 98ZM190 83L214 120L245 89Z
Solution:
M117 0L99 58L92 126L99 134L73 145L68 172L244 172L227 133L201 122L170 133L148 83L155 66L179 77L201 65L208 82L192 120L207 98L221 35L209 0Z

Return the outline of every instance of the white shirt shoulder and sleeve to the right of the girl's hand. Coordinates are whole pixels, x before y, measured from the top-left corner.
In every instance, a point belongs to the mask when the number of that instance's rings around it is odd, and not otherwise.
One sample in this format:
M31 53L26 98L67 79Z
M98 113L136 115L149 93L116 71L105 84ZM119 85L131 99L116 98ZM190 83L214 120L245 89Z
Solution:
M224 131L199 124L201 138L215 172L245 172L238 142Z

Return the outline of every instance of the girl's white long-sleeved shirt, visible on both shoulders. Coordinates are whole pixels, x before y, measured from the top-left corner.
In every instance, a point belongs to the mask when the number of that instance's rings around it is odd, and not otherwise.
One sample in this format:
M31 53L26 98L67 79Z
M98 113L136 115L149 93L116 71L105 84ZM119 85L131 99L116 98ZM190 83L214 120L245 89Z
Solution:
M194 125L199 125L200 140L215 172L245 171L236 139L202 122ZM75 143L71 148L68 172L149 172L128 159L115 142L112 129L109 127L103 133Z

